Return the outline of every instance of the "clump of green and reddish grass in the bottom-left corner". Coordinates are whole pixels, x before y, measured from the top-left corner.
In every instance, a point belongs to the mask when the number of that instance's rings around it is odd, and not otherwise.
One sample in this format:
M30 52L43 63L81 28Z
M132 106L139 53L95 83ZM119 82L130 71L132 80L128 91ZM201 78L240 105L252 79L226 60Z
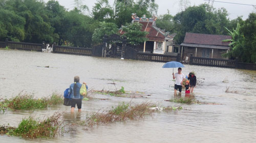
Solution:
M29 117L23 119L17 128L5 125L0 126L0 133L22 136L24 138L52 138L61 128L60 117L60 113L54 113L53 116L44 121L38 121Z

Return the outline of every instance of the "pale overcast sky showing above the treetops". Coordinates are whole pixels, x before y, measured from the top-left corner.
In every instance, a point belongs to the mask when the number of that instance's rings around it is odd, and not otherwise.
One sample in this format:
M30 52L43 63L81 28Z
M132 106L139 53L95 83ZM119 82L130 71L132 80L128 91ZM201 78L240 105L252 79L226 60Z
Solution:
M44 1L48 2L48 0L44 0ZM57 1L61 6L64 6L68 10L72 10L75 6L73 0L57 0ZM83 4L87 5L90 11L92 11L92 8L96 2L97 2L96 0L90 0L90 1L84 0ZM109 2L110 2L110 5L113 6L114 0L109 0ZM194 6L194 5L198 6L204 3L208 4L208 1L203 1L203 0L190 0L190 2L191 2L191 6ZM228 11L229 19L235 19L238 16L243 16L243 19L245 20L246 18L248 18L249 13L255 12L255 9L252 6L227 4L227 3L220 3L220 2L247 4L247 5L256 6L256 0L217 0L215 1L213 4L213 7L217 9L224 7ZM178 12L181 11L179 0L156 0L156 3L159 6L158 13L157 13L158 15L166 14L167 9L172 15L176 15Z

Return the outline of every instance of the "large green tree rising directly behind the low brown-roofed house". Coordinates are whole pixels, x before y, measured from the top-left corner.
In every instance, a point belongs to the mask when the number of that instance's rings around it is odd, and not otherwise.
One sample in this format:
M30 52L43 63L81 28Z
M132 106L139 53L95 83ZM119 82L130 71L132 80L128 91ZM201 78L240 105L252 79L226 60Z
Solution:
M174 16L174 40L182 43L186 32L226 35L224 27L230 24L224 8L208 12L207 5L193 6Z

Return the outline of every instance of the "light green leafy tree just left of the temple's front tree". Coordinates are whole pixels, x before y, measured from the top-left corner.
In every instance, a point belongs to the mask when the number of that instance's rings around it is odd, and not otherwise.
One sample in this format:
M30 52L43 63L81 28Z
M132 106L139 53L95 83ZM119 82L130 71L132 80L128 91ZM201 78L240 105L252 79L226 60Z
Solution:
M99 44L102 42L104 35L110 36L112 34L117 34L118 28L115 23L111 22L100 22L99 27L94 30L92 41L94 44Z

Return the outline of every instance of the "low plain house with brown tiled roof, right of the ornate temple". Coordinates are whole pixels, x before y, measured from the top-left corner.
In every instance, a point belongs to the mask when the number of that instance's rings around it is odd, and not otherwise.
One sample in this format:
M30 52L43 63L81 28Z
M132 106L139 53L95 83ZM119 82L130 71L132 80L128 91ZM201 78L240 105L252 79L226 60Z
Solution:
M231 39L231 36L187 32L184 42L180 44L181 58L187 60L190 56L195 56L224 59L222 54L229 50L229 42L222 42L225 39Z

